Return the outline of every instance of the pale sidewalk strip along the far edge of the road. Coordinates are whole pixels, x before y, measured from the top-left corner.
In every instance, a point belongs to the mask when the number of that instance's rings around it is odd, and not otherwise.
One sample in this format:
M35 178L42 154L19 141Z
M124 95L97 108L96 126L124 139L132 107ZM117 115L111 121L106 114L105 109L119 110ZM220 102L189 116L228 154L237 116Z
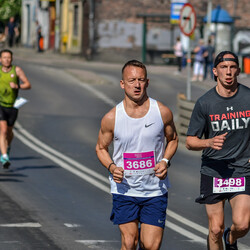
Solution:
M81 56L73 56L69 54L59 54L53 51L45 51L43 53L36 52L33 48L13 48L13 56L14 59L17 58L23 61L29 62L36 62L42 63L46 65L58 65L58 66L65 66L67 70L73 74L74 76L86 80L89 83L105 83L105 80L94 73L94 71L87 71L79 69L81 66L91 66L93 68L111 68L117 69L118 71L121 70L124 62L121 63L106 63L101 61L87 61L84 57ZM177 66L170 66L170 65L147 65L149 73L160 73L160 74L167 74L172 76L174 79L182 79L183 81L187 81L187 68L184 68L181 74L176 74ZM191 69L192 75L192 69ZM250 75L241 73L238 77L238 82L250 87ZM192 82L192 85L195 86L203 86L207 89L212 88L215 86L216 82L211 79L206 79L202 82Z

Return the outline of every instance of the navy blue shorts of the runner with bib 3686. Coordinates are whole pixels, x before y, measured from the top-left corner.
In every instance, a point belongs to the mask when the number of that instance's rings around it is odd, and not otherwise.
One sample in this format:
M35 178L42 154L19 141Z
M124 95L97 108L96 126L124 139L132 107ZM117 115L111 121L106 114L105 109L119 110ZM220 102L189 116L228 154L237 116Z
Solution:
M110 220L120 225L134 220L140 223L165 227L168 193L156 197L131 197L113 194Z

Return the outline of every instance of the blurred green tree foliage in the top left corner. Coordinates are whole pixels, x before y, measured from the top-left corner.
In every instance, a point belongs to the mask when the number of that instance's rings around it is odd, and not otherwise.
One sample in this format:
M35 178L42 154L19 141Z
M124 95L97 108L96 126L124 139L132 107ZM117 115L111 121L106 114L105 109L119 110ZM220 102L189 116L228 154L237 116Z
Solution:
M0 0L0 21L6 22L11 16L20 16L22 0Z

